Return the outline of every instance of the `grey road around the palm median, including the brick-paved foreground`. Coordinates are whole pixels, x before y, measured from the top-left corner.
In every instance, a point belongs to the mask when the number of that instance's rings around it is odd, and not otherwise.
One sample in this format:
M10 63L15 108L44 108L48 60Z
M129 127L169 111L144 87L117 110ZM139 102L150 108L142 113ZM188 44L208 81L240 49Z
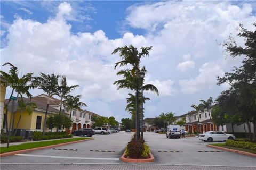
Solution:
M121 162L119 157L123 154L127 142L132 138L132 133L120 132L95 135L94 140L58 147L77 149L77 151L43 149L3 157L1 169L94 169L96 167L99 169L189 169L189 167L191 169L256 169L255 157L228 151L198 152L217 151L217 149L206 147L207 143L195 137L169 139L165 134L154 132L146 132L144 137L155 157L155 162L137 165ZM66 166L63 168L61 165Z

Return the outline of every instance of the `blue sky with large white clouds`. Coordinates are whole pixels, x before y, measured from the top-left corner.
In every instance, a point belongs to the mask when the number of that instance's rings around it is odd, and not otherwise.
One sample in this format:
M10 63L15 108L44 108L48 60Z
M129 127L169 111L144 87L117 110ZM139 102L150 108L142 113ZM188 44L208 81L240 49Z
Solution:
M243 56L231 58L220 45L236 37L242 23L253 30L254 1L1 1L1 65L11 62L25 74L66 75L68 84L79 84L71 94L82 95L85 109L116 120L131 117L125 111L129 91L117 90L121 79L114 65L117 47L153 46L146 66L146 84L159 96L150 100L145 117L162 112L179 116L192 104L217 98L228 84L223 76L239 66ZM1 70L8 71L1 66ZM124 68L123 68L124 69ZM37 96L43 91L36 89ZM10 96L7 88L6 97Z

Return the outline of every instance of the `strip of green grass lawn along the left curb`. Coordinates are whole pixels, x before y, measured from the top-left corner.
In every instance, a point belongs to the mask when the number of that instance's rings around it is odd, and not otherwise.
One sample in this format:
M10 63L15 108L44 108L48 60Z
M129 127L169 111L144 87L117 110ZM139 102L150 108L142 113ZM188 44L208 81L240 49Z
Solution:
M43 142L23 143L20 145L9 146L9 148L1 147L0 153L23 150L23 149L45 147L45 146L50 146L50 145L56 145L59 143L67 143L67 142L73 142L73 141L85 140L85 139L90 139L90 138L70 138L70 139L60 139L60 140L43 141Z

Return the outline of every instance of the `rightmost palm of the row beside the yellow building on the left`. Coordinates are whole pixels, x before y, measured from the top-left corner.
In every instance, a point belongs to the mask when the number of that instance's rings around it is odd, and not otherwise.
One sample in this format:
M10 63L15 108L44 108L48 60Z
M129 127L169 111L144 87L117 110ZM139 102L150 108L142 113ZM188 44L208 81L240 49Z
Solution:
M67 107L67 111L70 111L69 118L71 118L71 114L72 114L73 109L80 110L81 107L83 107L83 106L87 107L87 105L85 103L80 101L81 96L82 95L77 95L75 97L74 96L68 96L63 101L63 104Z

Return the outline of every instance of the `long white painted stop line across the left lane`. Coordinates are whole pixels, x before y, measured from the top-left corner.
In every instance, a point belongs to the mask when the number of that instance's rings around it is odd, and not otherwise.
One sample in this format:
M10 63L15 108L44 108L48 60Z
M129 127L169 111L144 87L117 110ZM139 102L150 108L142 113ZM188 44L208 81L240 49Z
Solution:
M50 155L32 155L32 154L16 154L16 155L42 157L42 158L61 158L61 159L119 160L119 158L89 158L89 157L69 157L69 156L50 156Z

